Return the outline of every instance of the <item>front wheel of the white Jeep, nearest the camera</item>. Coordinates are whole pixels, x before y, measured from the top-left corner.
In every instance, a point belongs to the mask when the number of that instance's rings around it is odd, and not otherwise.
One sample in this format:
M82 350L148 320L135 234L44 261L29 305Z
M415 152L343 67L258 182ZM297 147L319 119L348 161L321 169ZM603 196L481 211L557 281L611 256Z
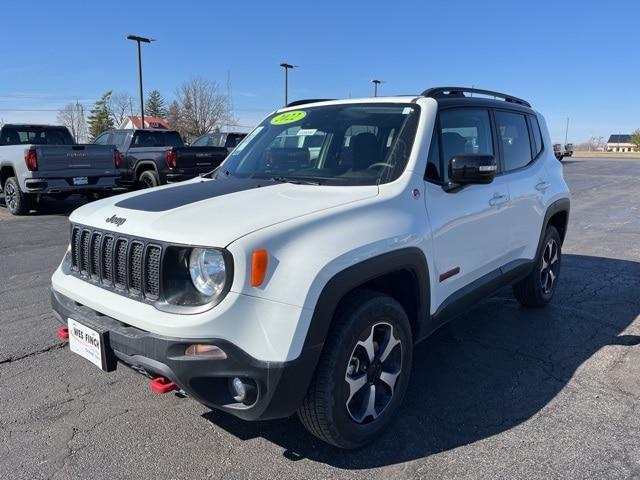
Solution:
M340 448L380 436L409 383L413 340L402 306L388 295L354 292L336 312L298 417Z

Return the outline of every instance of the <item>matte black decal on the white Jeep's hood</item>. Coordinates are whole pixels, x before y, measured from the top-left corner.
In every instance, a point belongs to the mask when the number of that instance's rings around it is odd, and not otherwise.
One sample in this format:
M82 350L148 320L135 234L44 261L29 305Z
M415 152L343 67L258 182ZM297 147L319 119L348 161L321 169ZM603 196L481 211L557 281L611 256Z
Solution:
M273 185L278 185L278 183L267 179L223 177L162 190L151 190L148 193L122 200L116 203L116 207L144 212L164 212L208 198Z

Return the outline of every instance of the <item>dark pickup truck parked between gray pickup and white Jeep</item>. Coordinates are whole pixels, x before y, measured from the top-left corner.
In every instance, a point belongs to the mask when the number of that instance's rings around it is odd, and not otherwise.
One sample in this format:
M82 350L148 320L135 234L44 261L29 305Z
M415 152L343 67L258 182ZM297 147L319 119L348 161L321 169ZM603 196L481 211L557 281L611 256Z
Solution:
M114 145L122 156L120 184L150 188L207 173L227 156L223 147L185 146L175 130L108 130L96 138Z

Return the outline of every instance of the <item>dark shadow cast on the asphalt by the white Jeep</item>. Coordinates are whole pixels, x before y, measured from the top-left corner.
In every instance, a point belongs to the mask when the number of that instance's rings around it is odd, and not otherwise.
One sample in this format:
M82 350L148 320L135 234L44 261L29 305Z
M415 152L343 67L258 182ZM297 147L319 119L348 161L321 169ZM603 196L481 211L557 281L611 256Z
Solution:
M640 313L638 291L638 262L564 255L547 308L521 308L505 289L419 344L403 408L385 435L356 451L322 443L296 418L204 417L241 439L274 442L292 461L366 469L420 459L516 427L599 350L640 344L640 336L622 334Z

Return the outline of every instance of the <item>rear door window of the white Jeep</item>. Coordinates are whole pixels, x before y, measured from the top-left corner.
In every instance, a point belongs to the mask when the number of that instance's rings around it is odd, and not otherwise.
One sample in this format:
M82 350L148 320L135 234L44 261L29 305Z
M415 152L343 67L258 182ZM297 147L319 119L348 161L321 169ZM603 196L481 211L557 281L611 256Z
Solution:
M524 115L496 111L496 129L502 146L505 171L516 170L528 165L531 158L531 142Z

